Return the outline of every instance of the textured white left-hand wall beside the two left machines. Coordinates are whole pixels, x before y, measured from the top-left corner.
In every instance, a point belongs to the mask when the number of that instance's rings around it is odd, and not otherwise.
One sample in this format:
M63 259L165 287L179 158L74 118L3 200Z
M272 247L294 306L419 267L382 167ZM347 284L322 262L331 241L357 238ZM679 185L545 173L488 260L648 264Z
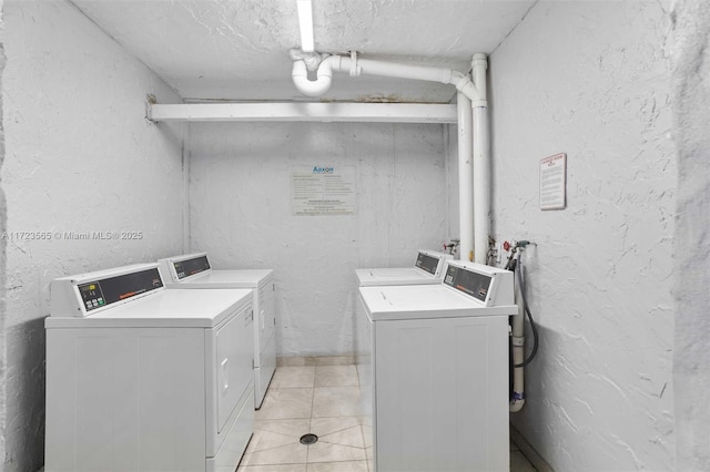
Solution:
M6 469L43 463L44 329L55 277L182 248L183 126L143 120L178 98L70 3L6 1ZM141 240L28 240L13 232L142 232Z

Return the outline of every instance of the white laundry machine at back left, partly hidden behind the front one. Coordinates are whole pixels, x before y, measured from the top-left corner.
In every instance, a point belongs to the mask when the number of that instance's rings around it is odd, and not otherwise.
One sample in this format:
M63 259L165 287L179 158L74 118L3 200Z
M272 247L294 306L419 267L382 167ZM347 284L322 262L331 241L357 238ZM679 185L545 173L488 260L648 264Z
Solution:
M158 261L168 288L248 288L254 305L254 407L276 371L276 297L272 269L213 270L206 253Z

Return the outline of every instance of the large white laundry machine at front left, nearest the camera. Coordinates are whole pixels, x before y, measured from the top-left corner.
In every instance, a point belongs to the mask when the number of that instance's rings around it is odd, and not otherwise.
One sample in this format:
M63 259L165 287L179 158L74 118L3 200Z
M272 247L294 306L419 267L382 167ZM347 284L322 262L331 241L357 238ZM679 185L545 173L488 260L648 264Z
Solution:
M158 264L59 278L45 466L219 471L254 430L252 291L165 290Z

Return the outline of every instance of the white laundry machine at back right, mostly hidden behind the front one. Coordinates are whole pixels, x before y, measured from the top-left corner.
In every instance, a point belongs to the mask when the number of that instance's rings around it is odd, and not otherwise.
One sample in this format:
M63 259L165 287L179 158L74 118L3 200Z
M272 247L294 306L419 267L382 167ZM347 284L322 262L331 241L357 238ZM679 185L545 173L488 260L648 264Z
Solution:
M355 269L359 287L375 285L420 285L442 281L450 254L419 250L414 267Z

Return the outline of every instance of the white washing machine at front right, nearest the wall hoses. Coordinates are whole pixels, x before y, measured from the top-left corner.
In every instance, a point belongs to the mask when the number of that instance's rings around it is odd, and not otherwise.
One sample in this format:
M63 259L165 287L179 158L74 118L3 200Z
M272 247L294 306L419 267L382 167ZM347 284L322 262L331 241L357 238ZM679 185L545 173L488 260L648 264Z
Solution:
M509 470L513 286L508 270L449 260L438 285L359 288L374 470Z

